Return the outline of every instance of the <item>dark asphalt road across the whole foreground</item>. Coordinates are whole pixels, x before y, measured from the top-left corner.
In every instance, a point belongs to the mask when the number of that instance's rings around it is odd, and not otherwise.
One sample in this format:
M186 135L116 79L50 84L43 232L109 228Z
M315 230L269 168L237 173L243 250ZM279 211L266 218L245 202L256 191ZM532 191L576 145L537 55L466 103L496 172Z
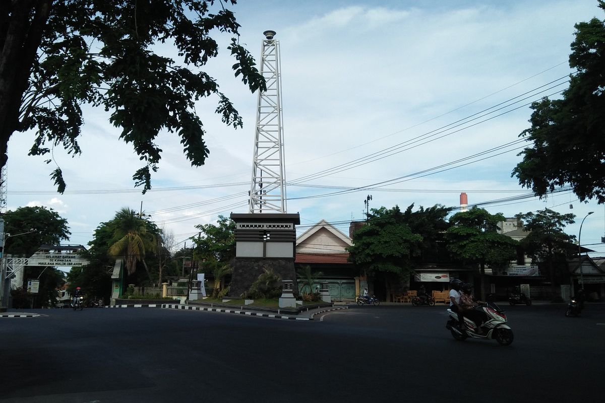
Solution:
M443 306L314 321L174 309L0 318L2 402L604 401L605 305L507 307L515 341L454 340ZM33 311L28 311L33 312Z

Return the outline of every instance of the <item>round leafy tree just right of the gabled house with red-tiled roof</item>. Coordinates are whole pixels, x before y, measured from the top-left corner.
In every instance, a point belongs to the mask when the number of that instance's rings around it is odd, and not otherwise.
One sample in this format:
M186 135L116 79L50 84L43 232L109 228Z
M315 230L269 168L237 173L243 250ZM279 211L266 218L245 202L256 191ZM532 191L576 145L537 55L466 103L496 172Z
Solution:
M398 206L373 208L371 211L367 224L353 233L353 246L347 248L348 260L368 276L384 275L388 295L388 277L410 273L410 256L419 253L422 236L414 234L405 224L404 214Z

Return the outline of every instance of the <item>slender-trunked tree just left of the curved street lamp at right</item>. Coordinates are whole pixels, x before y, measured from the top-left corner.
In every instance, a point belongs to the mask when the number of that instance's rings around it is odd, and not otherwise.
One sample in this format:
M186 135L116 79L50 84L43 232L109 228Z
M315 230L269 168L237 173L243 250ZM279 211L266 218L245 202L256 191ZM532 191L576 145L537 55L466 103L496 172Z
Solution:
M557 295L554 260L565 262L571 252L575 236L563 232L565 225L574 224L574 214L560 214L549 208L537 213L519 213L528 236L520 244L528 256L545 260L551 277L552 295ZM574 247L575 249L575 247Z

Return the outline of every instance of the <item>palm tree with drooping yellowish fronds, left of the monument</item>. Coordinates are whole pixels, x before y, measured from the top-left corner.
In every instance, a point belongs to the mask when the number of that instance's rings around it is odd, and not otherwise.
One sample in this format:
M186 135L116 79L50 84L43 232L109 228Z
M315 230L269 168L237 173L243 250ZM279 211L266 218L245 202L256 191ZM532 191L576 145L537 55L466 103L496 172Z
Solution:
M141 214L128 207L117 211L114 222L117 228L114 231L114 239L118 239L108 250L110 256L122 257L128 276L137 269L137 262L142 262L147 271L149 279L151 274L145 262L147 252L155 253L157 245L157 234L148 229L148 221L141 218Z

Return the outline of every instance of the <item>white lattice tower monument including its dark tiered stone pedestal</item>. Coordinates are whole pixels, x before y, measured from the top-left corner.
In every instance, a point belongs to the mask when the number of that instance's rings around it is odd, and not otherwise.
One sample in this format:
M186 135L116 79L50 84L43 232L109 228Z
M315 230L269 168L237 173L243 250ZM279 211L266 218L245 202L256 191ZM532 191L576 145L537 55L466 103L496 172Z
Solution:
M275 31L264 31L260 73L267 83L259 91L252 157L252 180L247 214L231 213L235 221L235 263L229 295L239 297L272 270L298 294L294 258L300 216L288 214L281 109L280 42ZM285 287L285 286L284 286Z

